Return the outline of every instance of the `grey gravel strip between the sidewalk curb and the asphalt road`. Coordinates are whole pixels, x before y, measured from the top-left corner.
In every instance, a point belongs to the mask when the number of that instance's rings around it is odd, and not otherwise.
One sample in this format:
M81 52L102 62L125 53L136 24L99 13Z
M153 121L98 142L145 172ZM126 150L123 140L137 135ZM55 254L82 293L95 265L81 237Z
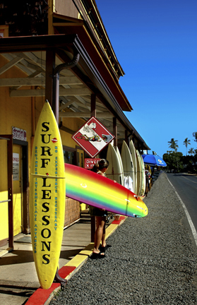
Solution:
M144 202L148 216L127 218L106 258L88 258L51 305L197 304L196 245L164 172Z

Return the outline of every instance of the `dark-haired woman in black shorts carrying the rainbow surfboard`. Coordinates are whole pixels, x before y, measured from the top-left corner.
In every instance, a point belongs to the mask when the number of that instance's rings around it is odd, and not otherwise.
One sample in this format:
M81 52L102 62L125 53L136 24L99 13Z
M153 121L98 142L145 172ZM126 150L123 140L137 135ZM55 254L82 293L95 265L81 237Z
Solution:
M109 162L105 159L101 159L97 164L92 167L92 172L96 172L105 177L105 172L109 167ZM96 231L95 231L95 244L91 258L105 258L105 224L107 211L105 209L95 208L89 205L89 211L91 216L96 217ZM102 243L100 246L100 242Z

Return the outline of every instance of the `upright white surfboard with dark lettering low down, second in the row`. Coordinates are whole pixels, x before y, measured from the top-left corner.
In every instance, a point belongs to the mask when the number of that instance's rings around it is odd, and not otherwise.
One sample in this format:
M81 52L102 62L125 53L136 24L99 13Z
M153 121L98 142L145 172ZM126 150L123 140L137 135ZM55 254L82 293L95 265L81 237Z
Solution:
M135 188L135 172L131 152L125 141L121 147L121 160L124 170L124 186L133 192Z

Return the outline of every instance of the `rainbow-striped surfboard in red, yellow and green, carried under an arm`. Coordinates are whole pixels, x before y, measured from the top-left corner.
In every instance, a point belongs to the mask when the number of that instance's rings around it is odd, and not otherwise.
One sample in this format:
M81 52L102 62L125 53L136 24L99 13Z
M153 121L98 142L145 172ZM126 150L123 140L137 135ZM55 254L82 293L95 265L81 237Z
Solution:
M130 217L145 217L148 208L140 197L111 179L65 163L66 196Z

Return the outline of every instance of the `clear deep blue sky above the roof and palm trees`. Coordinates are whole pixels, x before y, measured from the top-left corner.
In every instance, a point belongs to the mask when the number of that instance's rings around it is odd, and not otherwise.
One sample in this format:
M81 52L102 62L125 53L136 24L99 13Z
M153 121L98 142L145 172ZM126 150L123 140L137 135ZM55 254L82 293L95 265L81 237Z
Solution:
M125 112L157 155L197 148L197 0L96 0L125 76Z

